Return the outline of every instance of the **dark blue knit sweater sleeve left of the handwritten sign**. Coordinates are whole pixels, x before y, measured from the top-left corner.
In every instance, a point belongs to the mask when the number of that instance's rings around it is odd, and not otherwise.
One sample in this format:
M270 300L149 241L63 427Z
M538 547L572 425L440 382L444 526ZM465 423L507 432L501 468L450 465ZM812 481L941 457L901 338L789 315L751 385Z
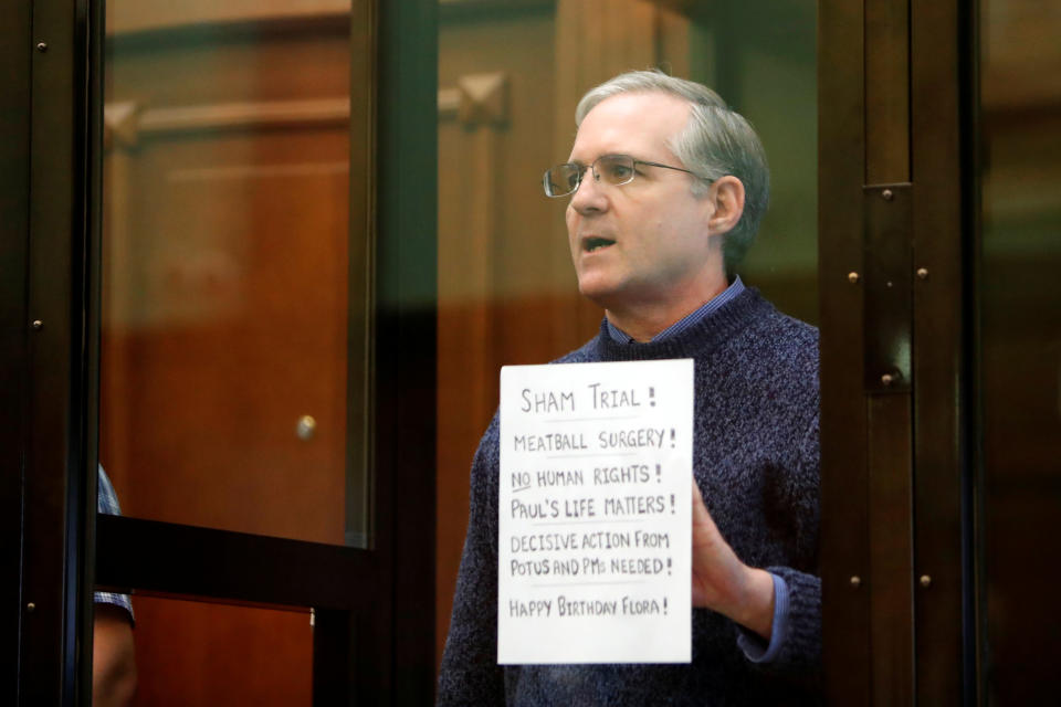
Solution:
M439 671L438 705L504 704L497 665L497 418L472 463L468 534Z

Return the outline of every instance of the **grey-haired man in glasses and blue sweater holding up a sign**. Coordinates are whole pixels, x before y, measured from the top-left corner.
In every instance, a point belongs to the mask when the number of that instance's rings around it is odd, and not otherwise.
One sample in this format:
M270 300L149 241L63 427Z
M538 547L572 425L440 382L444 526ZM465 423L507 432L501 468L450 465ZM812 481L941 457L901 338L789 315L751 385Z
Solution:
M440 704L817 704L818 336L727 268L768 198L758 137L708 88L622 74L576 110L567 163L579 291L600 334L559 362L694 359L690 665L496 665L497 419L471 513Z

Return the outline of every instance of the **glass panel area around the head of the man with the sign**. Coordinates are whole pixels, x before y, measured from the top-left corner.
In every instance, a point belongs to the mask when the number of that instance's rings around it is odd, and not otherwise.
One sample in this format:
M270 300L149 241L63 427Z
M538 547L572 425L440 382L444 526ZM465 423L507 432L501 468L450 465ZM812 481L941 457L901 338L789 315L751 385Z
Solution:
M703 7L710 6L710 7ZM817 321L817 83L812 3L440 2L438 639L468 525L469 467L498 369L577 348L601 310L577 289L542 175L565 161L593 85L662 66L714 86L758 129L771 207L740 268ZM763 18L770 18L764 22Z

